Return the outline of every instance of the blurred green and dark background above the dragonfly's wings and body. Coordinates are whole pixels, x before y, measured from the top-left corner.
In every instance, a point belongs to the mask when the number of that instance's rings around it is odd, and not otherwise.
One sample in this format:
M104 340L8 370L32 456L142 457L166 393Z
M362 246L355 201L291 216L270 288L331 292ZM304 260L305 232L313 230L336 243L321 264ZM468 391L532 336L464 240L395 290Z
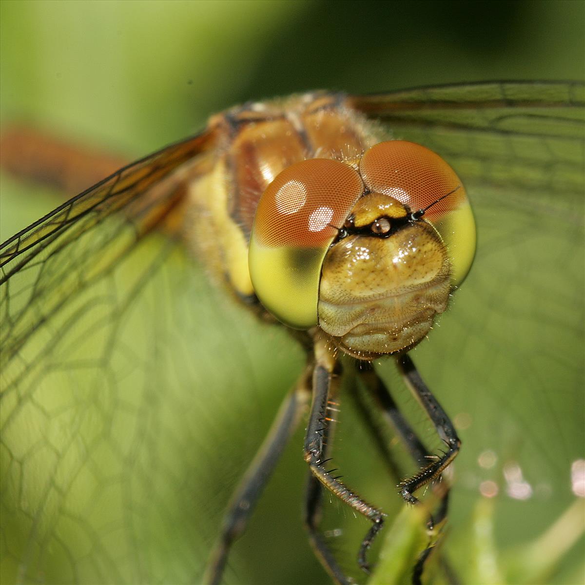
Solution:
M5 0L0 115L133 159L249 99L582 79L583 6Z

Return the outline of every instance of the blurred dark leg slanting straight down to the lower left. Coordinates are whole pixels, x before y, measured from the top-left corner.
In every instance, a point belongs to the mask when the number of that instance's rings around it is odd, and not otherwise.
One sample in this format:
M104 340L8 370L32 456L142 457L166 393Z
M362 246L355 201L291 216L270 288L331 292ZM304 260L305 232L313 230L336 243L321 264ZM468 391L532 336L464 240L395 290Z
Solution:
M245 531L254 506L270 479L288 439L297 428L302 412L307 407L311 371L312 366L305 371L297 387L284 399L268 435L233 493L223 517L218 542L209 556L204 583L218 585L221 581L229 549Z

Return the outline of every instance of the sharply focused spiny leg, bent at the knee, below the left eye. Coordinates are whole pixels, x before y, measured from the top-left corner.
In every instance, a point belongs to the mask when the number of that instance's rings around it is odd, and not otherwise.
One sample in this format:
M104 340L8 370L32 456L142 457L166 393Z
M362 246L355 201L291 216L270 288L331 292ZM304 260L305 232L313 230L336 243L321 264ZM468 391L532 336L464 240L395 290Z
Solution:
M366 560L367 549L370 548L373 539L376 534L380 531L384 524L384 513L378 508L368 504L354 491L350 490L345 484L332 476L331 471L325 469L327 458L325 456L325 438L329 428L331 418L328 417L328 402L329 395L332 391L332 378L335 376L331 368L326 367L322 363L317 363L315 371L313 373L313 398L311 405L311 414L309 415L309 422L307 426L307 434L305 435L305 461L309 464L309 470L319 483L322 484L326 489L331 491L333 495L338 497L340 500L350 505L354 510L364 515L372 522L370 530L362 541L359 553L357 555L357 562L359 566L366 572L369 572L370 566ZM311 494L316 487L309 482L308 490L308 511L311 512L311 508L314 508L312 513L308 514L310 523L308 522L309 530L312 538L315 538L314 530L314 518L316 517L316 509L318 508L318 500L315 500L315 496ZM314 500L314 501L312 501ZM315 545L319 558L324 563L325 569L329 571L334 579L338 579L335 574L335 566L329 563L331 553L326 548L324 541L321 536L315 538ZM326 550L326 553L324 551ZM347 583L348 581L341 581L341 583Z

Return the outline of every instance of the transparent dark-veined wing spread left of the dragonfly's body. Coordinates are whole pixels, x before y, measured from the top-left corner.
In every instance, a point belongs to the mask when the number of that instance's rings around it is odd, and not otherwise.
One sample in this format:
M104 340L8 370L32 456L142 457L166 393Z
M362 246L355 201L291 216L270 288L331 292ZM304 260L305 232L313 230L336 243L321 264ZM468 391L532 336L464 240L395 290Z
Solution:
M123 168L0 249L3 582L201 576L302 363L209 288L184 245L188 188L216 142L206 132Z

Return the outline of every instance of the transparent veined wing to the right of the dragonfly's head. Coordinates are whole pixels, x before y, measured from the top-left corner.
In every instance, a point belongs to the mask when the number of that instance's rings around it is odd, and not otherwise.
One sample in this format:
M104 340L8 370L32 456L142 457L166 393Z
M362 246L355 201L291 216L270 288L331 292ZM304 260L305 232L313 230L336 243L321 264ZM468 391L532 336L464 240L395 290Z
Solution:
M498 545L526 542L574 500L571 467L584 455L584 86L448 85L350 104L391 136L441 154L466 185L476 260L413 356L452 417L466 421L452 550L466 544L484 481L499 490ZM486 468L488 451L496 463Z

